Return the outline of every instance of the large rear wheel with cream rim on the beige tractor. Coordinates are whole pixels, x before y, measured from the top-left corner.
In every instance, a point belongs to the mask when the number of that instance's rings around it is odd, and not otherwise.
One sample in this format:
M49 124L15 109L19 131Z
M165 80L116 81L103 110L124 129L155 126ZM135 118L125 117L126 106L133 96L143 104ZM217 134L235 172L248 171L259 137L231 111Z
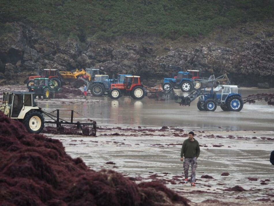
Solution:
M44 129L44 117L37 110L28 112L23 119L23 125L25 125L29 133L39 134Z

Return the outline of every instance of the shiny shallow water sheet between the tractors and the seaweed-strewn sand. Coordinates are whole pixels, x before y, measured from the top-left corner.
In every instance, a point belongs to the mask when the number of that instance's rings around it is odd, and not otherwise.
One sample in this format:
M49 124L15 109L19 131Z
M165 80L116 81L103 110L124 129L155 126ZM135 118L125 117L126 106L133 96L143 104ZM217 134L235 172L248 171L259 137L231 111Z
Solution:
M183 94L176 90L177 93ZM274 93L274 89L241 90L242 96L256 93ZM156 101L145 97L134 100L121 97L112 100L109 97L83 97L72 99L39 100L39 106L52 111L53 109L75 110L84 116L75 115L78 121L86 118L97 121L100 126L180 126L206 130L273 130L274 107L264 101L256 104L245 104L241 112L224 112L217 107L215 112L199 111L198 98L190 106L180 106L174 101ZM55 104L52 104L52 103ZM61 104L63 102L63 104ZM70 119L69 111L62 111L60 115Z

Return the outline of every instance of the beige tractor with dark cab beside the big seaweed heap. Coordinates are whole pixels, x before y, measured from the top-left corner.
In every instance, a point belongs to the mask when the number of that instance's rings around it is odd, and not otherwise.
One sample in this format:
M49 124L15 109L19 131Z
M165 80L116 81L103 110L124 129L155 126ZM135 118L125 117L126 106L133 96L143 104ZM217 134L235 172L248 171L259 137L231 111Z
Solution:
M34 102L33 92L4 92L0 111L23 123L29 133L40 133L44 128L41 108Z

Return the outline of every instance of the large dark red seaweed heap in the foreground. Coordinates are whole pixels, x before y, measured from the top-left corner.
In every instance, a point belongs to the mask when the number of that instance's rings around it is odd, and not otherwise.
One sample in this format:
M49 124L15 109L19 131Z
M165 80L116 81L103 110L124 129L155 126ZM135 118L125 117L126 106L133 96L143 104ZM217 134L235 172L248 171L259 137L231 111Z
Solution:
M95 172L67 155L59 140L29 134L2 113L0 157L2 205L188 205L160 183Z

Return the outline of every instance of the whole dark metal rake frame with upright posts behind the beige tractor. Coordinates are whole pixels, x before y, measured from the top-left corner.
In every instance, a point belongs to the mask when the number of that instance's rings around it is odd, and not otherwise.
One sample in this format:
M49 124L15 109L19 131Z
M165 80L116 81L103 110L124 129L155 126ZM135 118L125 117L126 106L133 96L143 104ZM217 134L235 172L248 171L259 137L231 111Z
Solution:
M57 111L57 116L54 116L53 112ZM96 136L96 122L89 120L87 123L73 122L73 114L79 114L71 110L71 121L67 122L59 118L59 110L55 110L51 113L43 113L50 117L53 121L45 121L44 129L42 133L53 133L53 134L75 134L84 136Z

